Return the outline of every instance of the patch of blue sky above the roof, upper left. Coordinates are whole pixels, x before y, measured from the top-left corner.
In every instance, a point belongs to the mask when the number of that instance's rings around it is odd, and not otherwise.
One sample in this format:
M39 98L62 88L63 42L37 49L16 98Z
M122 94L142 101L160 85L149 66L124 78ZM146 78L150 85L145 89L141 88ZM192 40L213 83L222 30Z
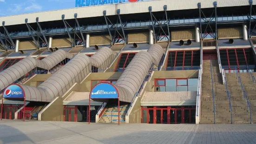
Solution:
M0 0L0 17L75 7L75 0Z

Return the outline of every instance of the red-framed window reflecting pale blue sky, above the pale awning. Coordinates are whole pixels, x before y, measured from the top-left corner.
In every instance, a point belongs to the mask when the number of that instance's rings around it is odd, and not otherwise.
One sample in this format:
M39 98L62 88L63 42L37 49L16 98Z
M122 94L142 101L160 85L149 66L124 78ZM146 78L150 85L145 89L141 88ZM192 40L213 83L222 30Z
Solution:
M197 91L198 79L155 79L155 92Z

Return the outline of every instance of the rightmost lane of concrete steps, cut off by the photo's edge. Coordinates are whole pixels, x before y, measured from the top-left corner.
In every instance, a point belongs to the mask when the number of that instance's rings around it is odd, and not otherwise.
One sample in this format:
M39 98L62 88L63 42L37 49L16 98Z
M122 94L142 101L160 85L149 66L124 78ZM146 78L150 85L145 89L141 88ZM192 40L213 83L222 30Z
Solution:
M256 72L252 72L252 75L256 75ZM249 73L239 73L241 81L243 83L243 88L247 93L249 99L249 104L251 108L252 123L256 124L256 83L252 82L252 77ZM249 111L249 110L248 110Z

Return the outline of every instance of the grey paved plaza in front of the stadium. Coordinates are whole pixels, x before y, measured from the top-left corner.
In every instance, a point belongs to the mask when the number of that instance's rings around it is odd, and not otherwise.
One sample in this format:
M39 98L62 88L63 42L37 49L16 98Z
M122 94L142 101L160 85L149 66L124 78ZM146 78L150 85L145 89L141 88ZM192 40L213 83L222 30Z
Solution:
M255 124L0 121L0 144L255 144Z

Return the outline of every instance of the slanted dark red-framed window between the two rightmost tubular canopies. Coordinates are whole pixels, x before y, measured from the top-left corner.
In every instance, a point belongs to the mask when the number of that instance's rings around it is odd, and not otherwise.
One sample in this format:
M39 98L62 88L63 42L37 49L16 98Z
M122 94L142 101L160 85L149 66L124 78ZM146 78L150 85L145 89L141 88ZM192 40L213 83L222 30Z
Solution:
M122 53L120 60L118 62L118 65L116 67L116 70L118 72L124 72L125 68L127 67L127 65L130 64L131 59L133 59L133 57L135 56L137 52L133 52L133 53Z

